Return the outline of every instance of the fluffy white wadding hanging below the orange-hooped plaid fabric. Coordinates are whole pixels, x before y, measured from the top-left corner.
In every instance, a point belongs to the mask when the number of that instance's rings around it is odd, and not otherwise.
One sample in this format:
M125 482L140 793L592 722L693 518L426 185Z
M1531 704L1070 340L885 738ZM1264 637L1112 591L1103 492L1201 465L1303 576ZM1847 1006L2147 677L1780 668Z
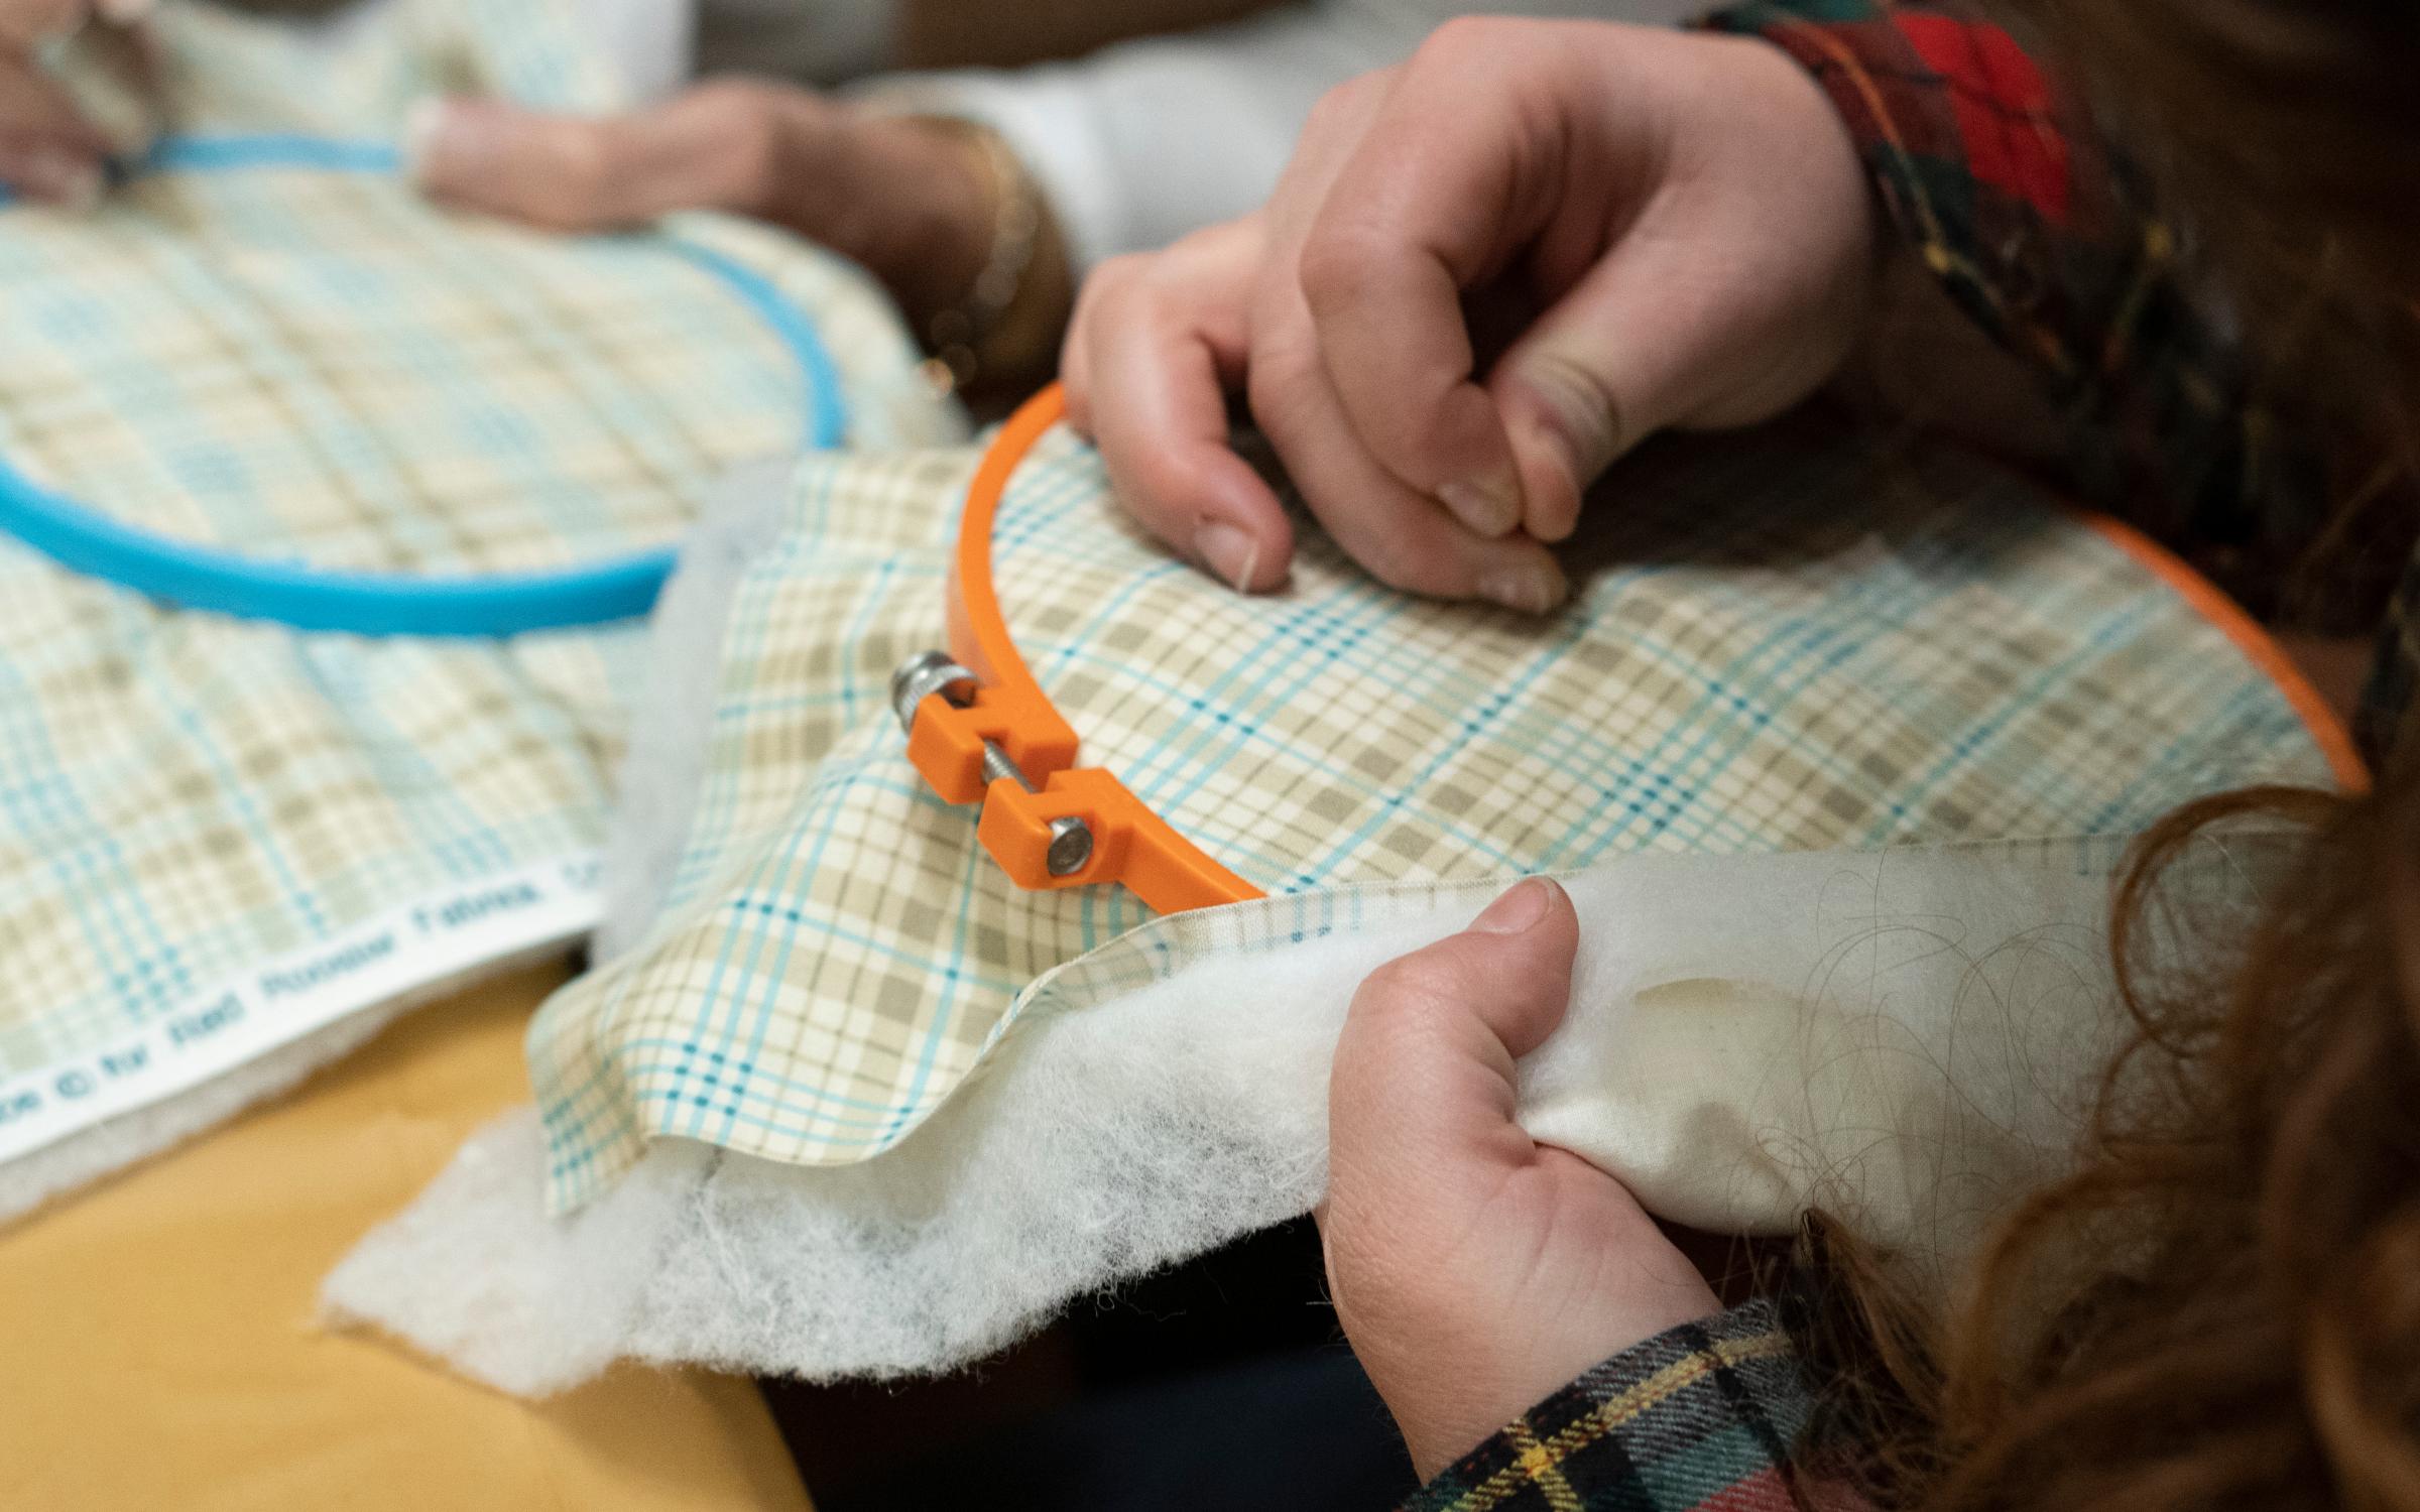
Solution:
M1784 856L1629 856L1566 878L1573 1009L1522 1064L1522 1123L1716 1231L1810 1205L1919 1280L2074 1144L2120 1033L2115 842ZM2207 842L2171 890L2258 902L2282 844ZM1295 939L1287 900L1147 927L1142 989L1074 963L927 1127L859 1166L685 1139L549 1222L523 1110L327 1282L375 1323L515 1393L615 1360L898 1377L990 1355L1123 1277L1307 1212L1353 989L1462 929L1488 885L1372 890ZM1111 946L1111 948L1120 948Z

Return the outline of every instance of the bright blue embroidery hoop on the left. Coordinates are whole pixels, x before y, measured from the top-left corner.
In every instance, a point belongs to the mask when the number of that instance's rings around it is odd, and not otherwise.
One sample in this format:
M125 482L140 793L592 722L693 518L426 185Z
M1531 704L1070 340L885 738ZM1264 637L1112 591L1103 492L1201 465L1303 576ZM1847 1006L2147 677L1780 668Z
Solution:
M172 135L136 162L128 177L247 167L397 174L402 157L385 143L310 135ZM0 208L10 198L0 189ZM806 312L770 278L711 247L673 235L661 235L656 242L721 281L772 329L806 382L803 445L818 450L840 445L847 433L840 375ZM315 569L123 525L41 489L10 467L7 457L0 457L0 532L65 569L167 605L358 636L489 639L636 619L656 605L675 561L675 552L666 547L532 573L416 576Z

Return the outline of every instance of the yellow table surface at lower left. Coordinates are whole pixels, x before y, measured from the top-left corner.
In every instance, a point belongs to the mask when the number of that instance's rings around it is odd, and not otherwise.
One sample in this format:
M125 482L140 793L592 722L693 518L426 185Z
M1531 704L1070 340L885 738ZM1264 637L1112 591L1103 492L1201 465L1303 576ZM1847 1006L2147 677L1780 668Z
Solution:
M745 1379L544 1403L315 1328L319 1277L494 1113L561 968L411 1014L300 1091L0 1229L0 1507L806 1512Z

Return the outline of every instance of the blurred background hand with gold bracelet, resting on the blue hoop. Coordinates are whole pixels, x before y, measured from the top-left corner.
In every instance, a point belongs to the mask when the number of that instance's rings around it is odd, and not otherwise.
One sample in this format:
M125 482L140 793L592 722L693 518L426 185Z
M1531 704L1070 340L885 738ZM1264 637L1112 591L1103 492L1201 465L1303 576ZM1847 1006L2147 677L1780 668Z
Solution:
M431 102L407 131L407 160L440 203L549 230L617 230L670 210L772 220L881 278L917 329L966 298L997 223L997 186L963 135L760 80L697 85L610 119Z

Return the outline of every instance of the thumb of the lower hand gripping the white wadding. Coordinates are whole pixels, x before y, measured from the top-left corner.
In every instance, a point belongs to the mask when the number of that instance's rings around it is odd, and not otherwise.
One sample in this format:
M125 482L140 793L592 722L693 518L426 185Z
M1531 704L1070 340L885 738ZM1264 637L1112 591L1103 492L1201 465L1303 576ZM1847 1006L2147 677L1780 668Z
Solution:
M1512 1062L1563 1021L1578 948L1571 898L1532 878L1362 982L1329 1079L1333 1217L1476 1202L1532 1159Z

